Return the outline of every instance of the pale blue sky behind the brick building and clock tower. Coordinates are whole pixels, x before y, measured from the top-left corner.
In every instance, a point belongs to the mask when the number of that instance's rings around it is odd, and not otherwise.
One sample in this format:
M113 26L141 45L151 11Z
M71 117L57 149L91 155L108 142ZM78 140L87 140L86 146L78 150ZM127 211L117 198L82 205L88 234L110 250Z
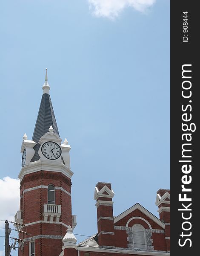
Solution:
M112 183L114 215L139 202L158 216L156 192L170 187L170 1L104 2L10 0L0 8L0 184L6 194L12 180L3 177L20 172L47 67L60 137L71 145L74 233L83 235L97 231L98 181ZM18 201L9 200L12 216Z

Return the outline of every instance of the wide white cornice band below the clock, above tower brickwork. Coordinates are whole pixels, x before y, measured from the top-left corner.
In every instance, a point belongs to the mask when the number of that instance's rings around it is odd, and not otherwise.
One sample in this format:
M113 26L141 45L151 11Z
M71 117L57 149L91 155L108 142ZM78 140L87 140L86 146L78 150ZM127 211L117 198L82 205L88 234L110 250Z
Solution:
M65 166L61 162L54 162L54 160L40 159L35 162L27 163L27 165L21 169L20 174L18 175L18 178L20 179L20 181L22 181L24 175L30 174L33 172L39 172L39 171L61 172L67 177L69 177L70 179L74 174L67 166Z

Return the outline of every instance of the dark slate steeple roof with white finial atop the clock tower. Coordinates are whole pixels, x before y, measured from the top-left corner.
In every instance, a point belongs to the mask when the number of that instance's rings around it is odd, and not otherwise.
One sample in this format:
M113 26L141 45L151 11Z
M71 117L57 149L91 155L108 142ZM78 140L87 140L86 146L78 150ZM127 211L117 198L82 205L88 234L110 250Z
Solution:
M47 80L47 69L46 69L45 83L43 85L43 96L41 99L40 108L37 115L37 120L36 120L33 137L32 137L32 140L34 142L37 142L37 144L34 146L35 154L31 159L31 162L34 162L40 159L40 156L38 155L38 149L40 148L40 144L38 144L38 142L44 134L49 132L50 125L52 125L54 129L53 132L60 137L55 115L54 115L53 106L51 103L51 97L49 95L49 90L50 90L50 87Z

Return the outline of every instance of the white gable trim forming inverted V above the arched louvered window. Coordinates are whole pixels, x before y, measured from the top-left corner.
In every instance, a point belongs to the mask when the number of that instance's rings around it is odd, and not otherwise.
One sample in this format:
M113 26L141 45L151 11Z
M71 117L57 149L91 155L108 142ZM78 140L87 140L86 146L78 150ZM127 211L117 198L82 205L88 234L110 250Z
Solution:
M163 229L165 228L165 224L160 221L155 215L153 215L151 212L149 212L147 209L145 209L143 206L141 206L140 204L135 204L134 206L132 206L131 208L129 208L128 210L126 210L125 212L121 213L120 215L118 215L117 217L114 218L114 223L117 223L117 221L120 221L121 219L123 219L126 215L128 215L129 213L133 212L134 210L139 209L140 212L143 212L147 217L149 217L152 221L154 221L155 223L157 223L160 227L162 227Z

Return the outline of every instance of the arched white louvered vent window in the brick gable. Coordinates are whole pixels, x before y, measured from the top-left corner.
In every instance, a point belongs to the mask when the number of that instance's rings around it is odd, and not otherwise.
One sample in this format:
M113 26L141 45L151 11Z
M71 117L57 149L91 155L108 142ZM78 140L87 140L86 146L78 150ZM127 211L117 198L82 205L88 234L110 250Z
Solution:
M140 224L133 226L134 249L146 249L145 229Z

